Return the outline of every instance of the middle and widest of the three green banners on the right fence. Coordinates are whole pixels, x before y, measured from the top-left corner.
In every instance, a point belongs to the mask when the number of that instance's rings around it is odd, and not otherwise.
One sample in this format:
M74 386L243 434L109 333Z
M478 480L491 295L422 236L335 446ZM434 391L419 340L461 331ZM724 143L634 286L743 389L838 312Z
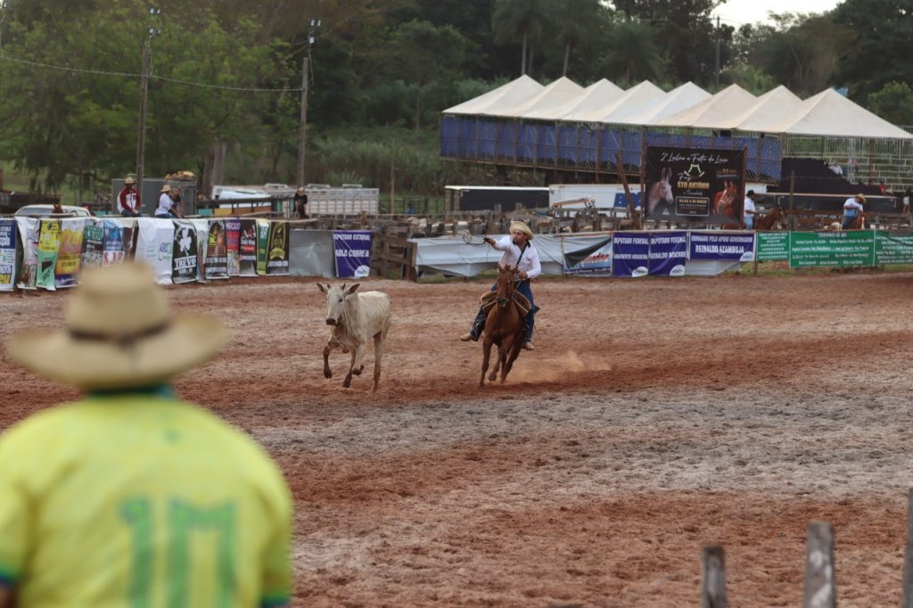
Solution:
M790 267L875 266L875 231L791 232Z

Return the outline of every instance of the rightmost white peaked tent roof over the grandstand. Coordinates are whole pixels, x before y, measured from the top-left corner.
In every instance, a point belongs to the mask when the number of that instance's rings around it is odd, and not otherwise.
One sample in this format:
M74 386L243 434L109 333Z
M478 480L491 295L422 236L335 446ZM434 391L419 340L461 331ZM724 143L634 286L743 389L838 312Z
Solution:
M913 135L907 131L878 118L834 89L823 90L804 100L779 119L772 118L771 121L754 124L752 131L823 137L913 139Z

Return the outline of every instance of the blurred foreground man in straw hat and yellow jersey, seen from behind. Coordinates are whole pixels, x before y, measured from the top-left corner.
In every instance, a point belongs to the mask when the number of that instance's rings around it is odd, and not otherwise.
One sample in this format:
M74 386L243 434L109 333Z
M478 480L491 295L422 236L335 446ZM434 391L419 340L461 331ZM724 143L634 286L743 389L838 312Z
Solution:
M87 268L66 327L9 338L76 402L0 435L0 606L280 606L291 499L249 436L169 381L215 357L219 320L173 314L152 270Z

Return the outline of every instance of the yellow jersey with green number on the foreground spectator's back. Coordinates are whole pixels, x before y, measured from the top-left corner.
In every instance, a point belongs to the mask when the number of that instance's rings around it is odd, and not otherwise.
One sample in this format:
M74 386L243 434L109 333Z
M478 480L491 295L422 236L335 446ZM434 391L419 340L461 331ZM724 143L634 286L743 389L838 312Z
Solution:
M20 608L288 603L289 487L170 392L90 395L0 436L0 584Z

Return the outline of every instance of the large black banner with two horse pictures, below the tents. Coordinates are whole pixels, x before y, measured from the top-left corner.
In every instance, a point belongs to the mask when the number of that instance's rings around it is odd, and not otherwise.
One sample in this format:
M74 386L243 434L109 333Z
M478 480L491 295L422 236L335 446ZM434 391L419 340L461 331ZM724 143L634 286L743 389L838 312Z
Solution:
M741 227L745 152L646 148L646 219Z

